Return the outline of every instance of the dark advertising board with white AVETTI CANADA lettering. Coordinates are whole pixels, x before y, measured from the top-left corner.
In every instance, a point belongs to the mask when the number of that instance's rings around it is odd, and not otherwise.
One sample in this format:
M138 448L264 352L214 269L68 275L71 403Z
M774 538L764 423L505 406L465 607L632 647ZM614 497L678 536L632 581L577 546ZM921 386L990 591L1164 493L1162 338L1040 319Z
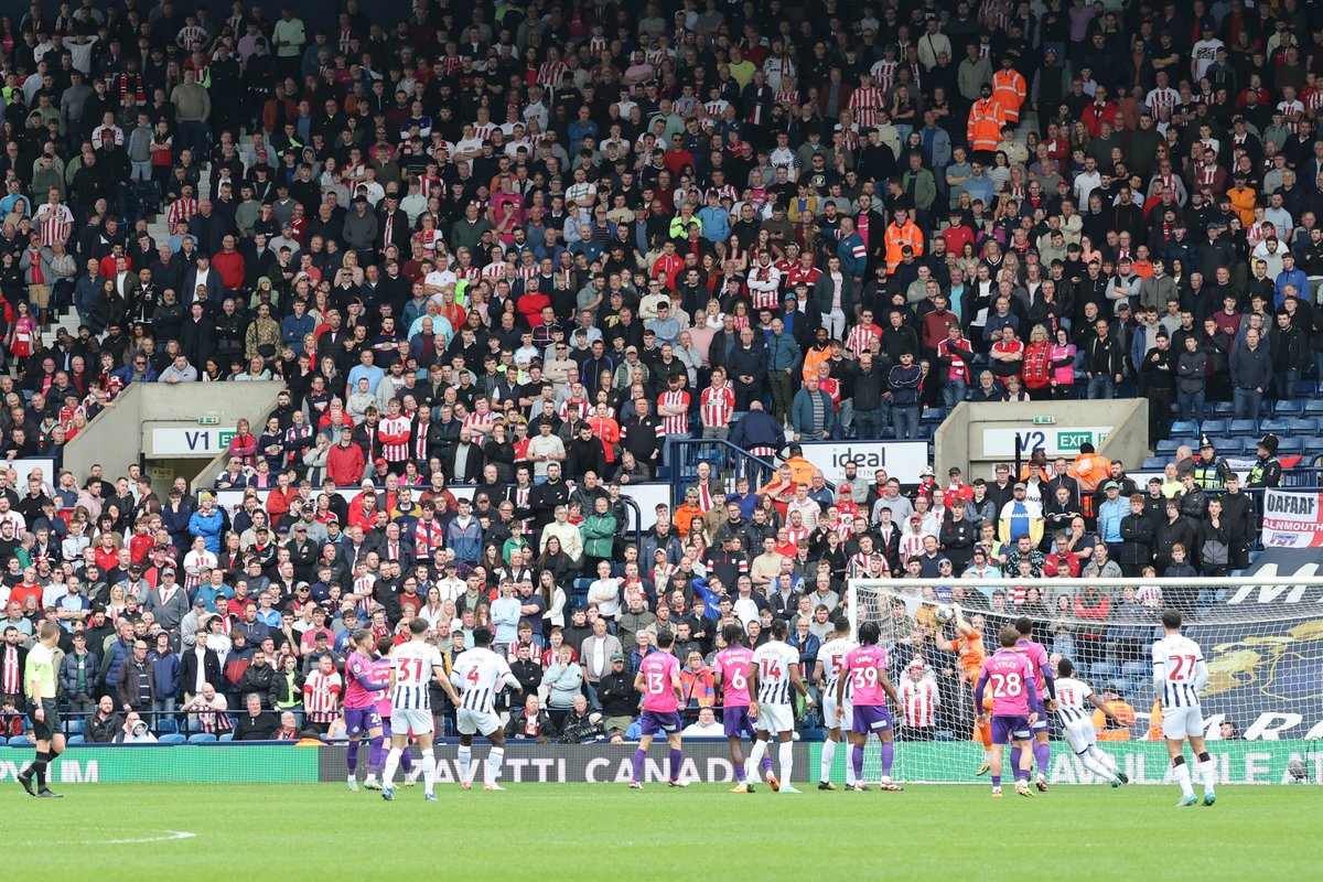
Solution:
M437 783L455 784L459 782L456 760L458 744L438 743ZM627 784L632 772L636 743L609 744L529 744L505 743L505 770L501 783L515 784ZM654 742L643 768L644 784L664 784L667 779L665 742ZM841 751L848 754L848 751ZM332 746L319 751L321 758L321 780L344 782L345 747ZM417 755L417 754L415 754ZM487 756L487 746L479 741L474 744L474 768L476 780L482 780L482 763ZM795 780L808 782L818 774L818 764L810 763L810 747L795 742ZM730 763L730 747L726 739L705 739L684 743L684 766L680 780L691 784L734 784L736 771Z

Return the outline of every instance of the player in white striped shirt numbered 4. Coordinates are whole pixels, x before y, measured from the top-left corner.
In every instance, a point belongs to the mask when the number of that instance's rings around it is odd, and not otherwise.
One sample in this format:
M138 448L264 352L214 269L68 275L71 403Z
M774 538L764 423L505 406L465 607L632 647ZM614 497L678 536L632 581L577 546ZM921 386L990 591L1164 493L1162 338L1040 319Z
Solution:
M455 702L455 725L459 729L459 785L466 791L474 785L474 735L482 735L491 742L487 754L487 767L483 778L484 791L505 789L500 780L500 768L505 762L505 733L500 717L492 710L496 696L505 686L519 689L519 678L511 673L509 662L491 651L492 632L488 628L474 628L474 648L466 649L455 659L450 682L459 689Z

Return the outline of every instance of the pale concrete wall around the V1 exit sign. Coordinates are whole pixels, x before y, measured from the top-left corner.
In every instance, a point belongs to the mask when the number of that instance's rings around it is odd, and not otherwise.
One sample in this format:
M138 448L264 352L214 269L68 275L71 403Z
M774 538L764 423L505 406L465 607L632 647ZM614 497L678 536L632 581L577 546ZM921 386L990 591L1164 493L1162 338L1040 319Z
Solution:
M198 428L198 417L217 421L202 428L229 430L241 417L259 426L282 389L280 382L131 383L114 407L69 442L65 467L79 480L94 463L102 463L107 475L119 475L128 463L143 459L144 431L151 426Z

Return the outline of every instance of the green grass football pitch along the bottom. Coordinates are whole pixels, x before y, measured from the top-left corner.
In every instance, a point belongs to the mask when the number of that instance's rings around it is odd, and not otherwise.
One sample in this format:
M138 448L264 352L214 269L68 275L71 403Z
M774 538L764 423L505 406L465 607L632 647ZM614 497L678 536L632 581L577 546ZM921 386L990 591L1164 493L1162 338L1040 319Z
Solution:
M807 787L807 785L806 785ZM1320 878L1314 787L987 787L749 796L701 784L509 784L505 792L344 784L65 785L0 792L9 878ZM1037 869L1035 869L1037 867ZM406 875L401 875L406 874ZM1139 875L1135 875L1139 874Z

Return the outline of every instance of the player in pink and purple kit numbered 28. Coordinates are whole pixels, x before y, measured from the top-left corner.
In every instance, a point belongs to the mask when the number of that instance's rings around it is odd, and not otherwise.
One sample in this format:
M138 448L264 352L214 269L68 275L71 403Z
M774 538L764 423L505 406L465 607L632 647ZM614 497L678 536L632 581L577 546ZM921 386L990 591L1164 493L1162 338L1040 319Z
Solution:
M1002 751L1007 743L1019 748L1015 767L1015 792L1033 796L1029 789L1029 733L1033 707L1037 703L1037 684L1033 665L1016 649L1020 632L1007 625L998 632L1002 648L983 660L979 682L974 688L974 703L983 707L983 690L991 686L992 696L992 799L1002 799ZM857 702L857 700L856 700ZM857 707L857 703L856 703ZM856 718L859 711L856 710ZM987 723L987 711L980 710L979 725Z

